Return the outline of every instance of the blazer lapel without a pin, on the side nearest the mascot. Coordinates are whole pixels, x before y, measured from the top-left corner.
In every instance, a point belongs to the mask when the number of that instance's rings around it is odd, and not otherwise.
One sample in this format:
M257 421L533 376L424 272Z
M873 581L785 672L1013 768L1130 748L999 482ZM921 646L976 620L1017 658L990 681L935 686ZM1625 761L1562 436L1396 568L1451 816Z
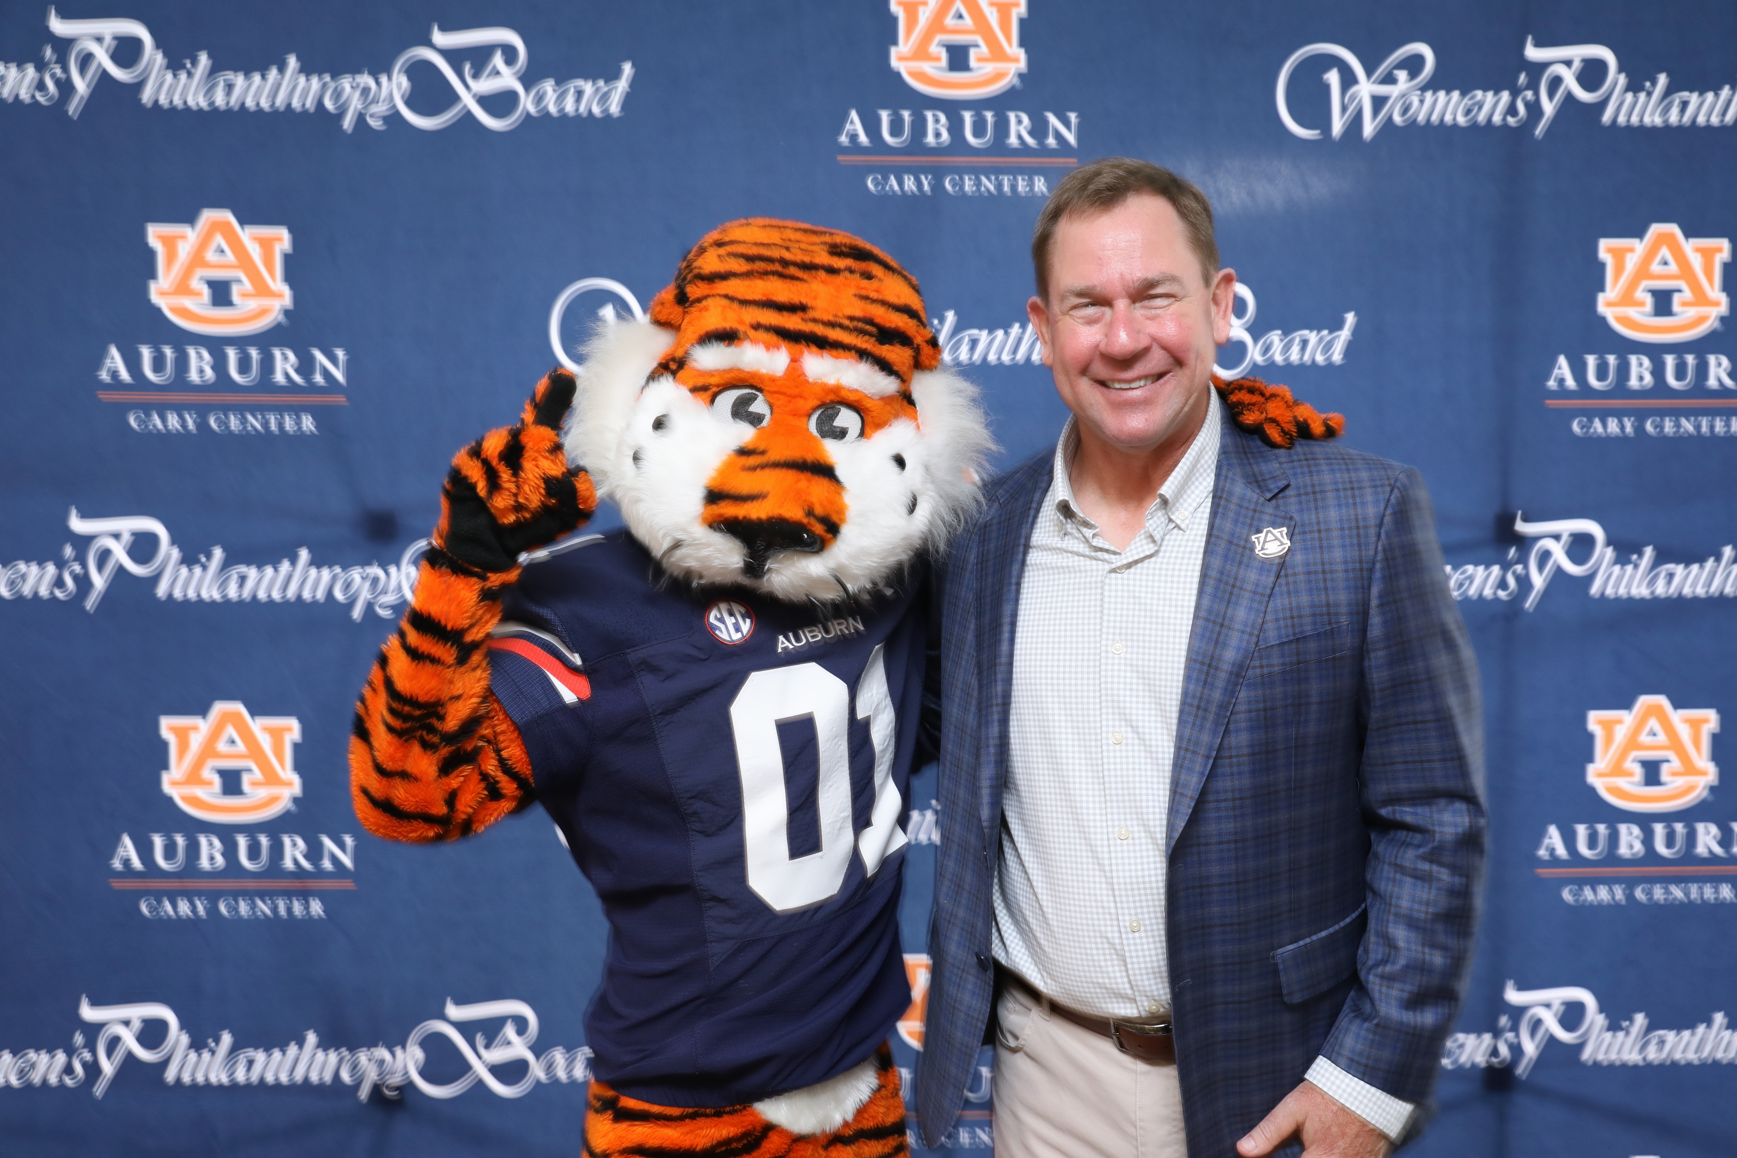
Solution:
M1049 493L1053 458L1027 467L1027 477L1009 484L985 512L976 564L978 622L988 628L978 648L978 807L983 847L995 842L1001 825L1001 788L1007 781L1007 712L1013 703L1013 641L1020 618L1020 580L1025 549L1032 542L1044 495Z

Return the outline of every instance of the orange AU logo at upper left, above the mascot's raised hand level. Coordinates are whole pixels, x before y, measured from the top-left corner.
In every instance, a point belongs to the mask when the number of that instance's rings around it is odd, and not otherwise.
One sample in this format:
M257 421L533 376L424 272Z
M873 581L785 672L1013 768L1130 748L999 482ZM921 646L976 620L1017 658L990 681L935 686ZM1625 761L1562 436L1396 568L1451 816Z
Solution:
M182 330L217 337L259 333L278 325L294 304L283 285L290 231L283 226L243 226L226 208L207 208L191 226L144 227L156 250L151 304ZM231 283L228 306L212 288Z

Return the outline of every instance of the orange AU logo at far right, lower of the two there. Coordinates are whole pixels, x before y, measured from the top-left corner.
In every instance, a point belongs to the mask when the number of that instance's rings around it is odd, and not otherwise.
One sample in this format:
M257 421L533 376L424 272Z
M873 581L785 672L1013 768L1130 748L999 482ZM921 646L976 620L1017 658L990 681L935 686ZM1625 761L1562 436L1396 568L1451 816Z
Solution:
M1628 712L1588 712L1593 762L1586 783L1629 813L1687 809L1720 783L1713 762L1718 729L1713 708L1673 708L1666 696L1640 696ZM1647 764L1657 764L1659 783L1647 783Z

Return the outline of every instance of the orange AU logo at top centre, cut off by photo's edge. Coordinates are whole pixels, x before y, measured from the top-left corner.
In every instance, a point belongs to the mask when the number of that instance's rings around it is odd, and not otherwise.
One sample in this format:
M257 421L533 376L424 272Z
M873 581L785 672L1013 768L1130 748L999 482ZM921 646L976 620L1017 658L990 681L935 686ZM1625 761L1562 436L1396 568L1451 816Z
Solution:
M898 14L893 71L931 97L973 101L1006 92L1025 71L1025 0L891 0ZM947 69L947 45L968 45L968 66Z

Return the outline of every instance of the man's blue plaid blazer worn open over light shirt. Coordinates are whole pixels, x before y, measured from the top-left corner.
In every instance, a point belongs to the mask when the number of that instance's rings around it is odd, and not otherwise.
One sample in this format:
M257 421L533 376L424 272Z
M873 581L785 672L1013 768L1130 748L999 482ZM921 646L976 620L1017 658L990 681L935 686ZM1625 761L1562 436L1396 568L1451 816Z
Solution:
M947 564L933 974L915 1083L929 1144L954 1123L992 1012L1014 620L1051 462L1044 451L990 483ZM1265 528L1284 528L1291 550L1259 557ZM1417 472L1332 443L1271 450L1226 420L1167 833L1193 1158L1232 1155L1317 1054L1395 1097L1428 1099L1471 958L1482 731Z

